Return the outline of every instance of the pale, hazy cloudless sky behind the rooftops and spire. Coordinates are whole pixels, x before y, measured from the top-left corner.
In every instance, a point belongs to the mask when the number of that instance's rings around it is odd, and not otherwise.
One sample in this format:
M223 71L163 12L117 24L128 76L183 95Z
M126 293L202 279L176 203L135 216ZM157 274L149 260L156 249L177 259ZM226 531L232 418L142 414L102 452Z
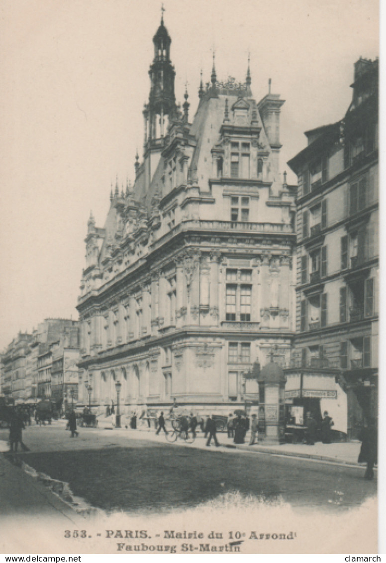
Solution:
M165 0L176 97L190 118L200 69L281 109L281 170L303 132L343 117L353 64L379 54L374 0ZM0 351L43 319L78 318L84 238L111 182L134 179L158 0L0 0Z

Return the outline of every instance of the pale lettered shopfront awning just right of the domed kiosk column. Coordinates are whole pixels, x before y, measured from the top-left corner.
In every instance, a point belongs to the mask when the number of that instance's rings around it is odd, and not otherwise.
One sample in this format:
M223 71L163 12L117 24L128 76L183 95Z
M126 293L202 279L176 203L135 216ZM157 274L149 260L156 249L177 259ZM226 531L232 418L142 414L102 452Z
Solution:
M286 399L338 399L335 376L291 373L286 378Z

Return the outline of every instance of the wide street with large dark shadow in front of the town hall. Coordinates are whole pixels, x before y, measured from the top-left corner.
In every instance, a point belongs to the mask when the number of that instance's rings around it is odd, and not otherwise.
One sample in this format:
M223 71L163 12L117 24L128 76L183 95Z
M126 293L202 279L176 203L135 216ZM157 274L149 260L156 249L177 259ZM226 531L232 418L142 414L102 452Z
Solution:
M203 435L193 446L180 447L179 441L170 445L164 436L155 437L154 430L79 431L71 439L62 421L27 427L23 440L31 451L14 458L68 483L75 496L107 512L172 511L228 493L289 503L294 510L342 511L376 496L376 479L363 479L361 467L205 448ZM0 430L0 440L6 439L7 430Z

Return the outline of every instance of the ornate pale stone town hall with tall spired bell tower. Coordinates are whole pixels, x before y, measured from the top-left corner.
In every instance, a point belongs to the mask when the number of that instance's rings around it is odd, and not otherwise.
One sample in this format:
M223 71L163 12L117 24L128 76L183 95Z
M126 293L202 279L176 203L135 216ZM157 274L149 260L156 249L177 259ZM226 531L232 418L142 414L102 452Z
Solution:
M170 37L154 35L143 160L117 184L103 228L89 218L80 399L128 410L227 412L255 392L254 361L289 361L294 334L294 186L281 181L280 108L215 60L190 123L174 95ZM271 90L271 88L270 88ZM268 357L268 354L270 356Z

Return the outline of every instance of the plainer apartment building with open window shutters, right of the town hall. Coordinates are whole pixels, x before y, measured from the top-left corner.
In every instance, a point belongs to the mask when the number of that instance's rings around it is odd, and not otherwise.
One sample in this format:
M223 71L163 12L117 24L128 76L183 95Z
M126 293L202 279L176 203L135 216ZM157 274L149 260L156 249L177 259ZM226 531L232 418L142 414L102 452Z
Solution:
M293 379L295 400L323 390L322 410L356 437L378 413L378 60L359 59L351 87L343 119L307 131L308 146L289 162L298 175L297 338L286 388Z

